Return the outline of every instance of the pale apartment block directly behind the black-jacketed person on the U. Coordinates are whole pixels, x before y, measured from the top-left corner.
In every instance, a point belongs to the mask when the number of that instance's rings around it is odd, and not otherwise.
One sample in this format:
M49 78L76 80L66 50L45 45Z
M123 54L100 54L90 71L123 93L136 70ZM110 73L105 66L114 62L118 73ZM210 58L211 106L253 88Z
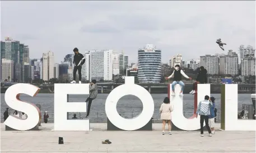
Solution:
M216 55L200 56L200 65L207 69L208 74L219 74L220 58Z

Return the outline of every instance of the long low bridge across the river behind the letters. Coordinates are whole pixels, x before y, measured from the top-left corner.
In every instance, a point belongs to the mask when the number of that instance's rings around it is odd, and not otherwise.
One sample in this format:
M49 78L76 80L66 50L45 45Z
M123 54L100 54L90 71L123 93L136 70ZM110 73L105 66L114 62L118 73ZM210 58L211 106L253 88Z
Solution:
M97 83L99 93L110 93L111 90L123 83ZM168 83L138 83L150 93L167 93ZM10 87L10 86L9 86ZM39 85L41 90L48 90L54 93L54 84ZM211 93L220 93L221 84L211 84ZM4 93L8 87L1 87L1 93ZM192 90L192 83L185 83L184 93ZM238 93L255 93L255 84L238 84Z

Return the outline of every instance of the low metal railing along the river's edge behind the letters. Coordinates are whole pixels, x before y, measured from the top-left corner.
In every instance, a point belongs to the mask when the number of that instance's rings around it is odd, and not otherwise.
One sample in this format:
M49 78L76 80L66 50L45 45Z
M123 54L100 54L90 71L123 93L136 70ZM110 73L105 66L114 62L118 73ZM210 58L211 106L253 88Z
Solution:
M12 112L11 114L13 114L14 110L9 110L9 112ZM1 111L1 123L3 122L3 113ZM118 112L120 114L120 116L122 116L123 118L133 118L136 117L140 114L140 112ZM21 117L21 113L19 112L20 117ZM67 113L67 118L68 119L73 119L73 114L76 114L77 119L85 119L86 117L86 112L69 112ZM216 121L220 122L220 112L217 112L217 116L216 116ZM54 122L54 112L50 111L48 112L49 118L48 118L48 123L53 123ZM186 118L189 118L193 115L192 111L183 111L183 115ZM41 112L41 122L44 122L44 112ZM90 112L90 123L106 123L107 122L107 117L106 117L106 112L105 111L92 111ZM153 113L152 116L152 120L153 123L161 123L161 119L160 119L160 112L159 111L155 111Z

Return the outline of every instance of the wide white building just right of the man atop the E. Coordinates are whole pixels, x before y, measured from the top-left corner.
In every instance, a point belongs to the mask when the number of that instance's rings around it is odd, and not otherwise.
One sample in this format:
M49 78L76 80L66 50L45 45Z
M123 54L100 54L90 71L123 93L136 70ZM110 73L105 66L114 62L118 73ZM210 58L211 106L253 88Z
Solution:
M90 51L90 80L112 80L112 60L113 50Z

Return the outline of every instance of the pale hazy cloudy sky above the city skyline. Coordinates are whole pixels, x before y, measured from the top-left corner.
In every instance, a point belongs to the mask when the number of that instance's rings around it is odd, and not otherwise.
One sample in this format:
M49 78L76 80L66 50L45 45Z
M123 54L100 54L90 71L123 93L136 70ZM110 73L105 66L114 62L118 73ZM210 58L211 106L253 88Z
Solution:
M55 63L74 47L123 50L136 62L146 44L162 50L163 63L176 54L198 59L255 47L255 1L1 1L5 36L29 45L30 58L52 50Z

